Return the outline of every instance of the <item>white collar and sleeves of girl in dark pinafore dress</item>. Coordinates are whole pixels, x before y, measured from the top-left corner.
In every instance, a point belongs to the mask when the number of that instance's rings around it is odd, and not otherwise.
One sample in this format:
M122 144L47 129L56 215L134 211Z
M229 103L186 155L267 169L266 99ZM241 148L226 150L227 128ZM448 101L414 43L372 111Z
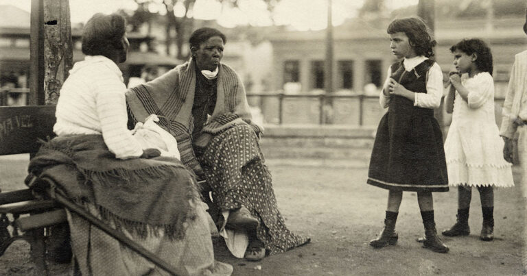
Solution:
M403 65L406 71L410 72L412 69L421 64L421 62L428 60L423 55L419 55L414 58L405 58L403 60ZM391 66L388 67L388 73L386 77L386 81L384 81L384 89L388 89L388 83L390 81L390 76L392 75L392 68ZM428 81L426 82L426 93L415 93L415 100L414 100L414 106L418 106L420 108L438 108L439 105L441 105L441 98L443 97L443 73L441 71L441 67L436 62L430 70L428 70ZM388 103L390 103L390 96L384 95L384 93L381 91L381 95L379 97L379 102L381 104L382 108L387 108Z

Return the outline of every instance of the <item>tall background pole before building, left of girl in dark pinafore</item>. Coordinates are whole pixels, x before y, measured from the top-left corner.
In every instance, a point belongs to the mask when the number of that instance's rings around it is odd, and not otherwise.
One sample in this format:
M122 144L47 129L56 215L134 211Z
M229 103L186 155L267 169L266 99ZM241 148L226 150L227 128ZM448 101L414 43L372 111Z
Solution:
M326 60L325 60L325 72L324 72L324 84L326 95L333 92L333 4L331 0L327 0L327 29L326 29ZM332 105L331 100L323 101L320 100L321 105ZM324 114L324 108L321 108L321 123L325 123L326 119Z

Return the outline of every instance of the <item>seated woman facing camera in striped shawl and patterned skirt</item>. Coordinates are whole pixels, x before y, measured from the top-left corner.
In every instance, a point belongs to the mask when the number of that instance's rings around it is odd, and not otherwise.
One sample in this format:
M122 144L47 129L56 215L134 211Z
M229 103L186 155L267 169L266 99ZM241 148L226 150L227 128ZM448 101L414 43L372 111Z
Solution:
M259 147L263 129L251 119L241 79L220 62L225 42L217 29L197 29L188 62L128 90L126 99L132 125L157 114L178 141L183 164L207 180L231 253L261 260L266 251L281 253L309 238L285 227Z

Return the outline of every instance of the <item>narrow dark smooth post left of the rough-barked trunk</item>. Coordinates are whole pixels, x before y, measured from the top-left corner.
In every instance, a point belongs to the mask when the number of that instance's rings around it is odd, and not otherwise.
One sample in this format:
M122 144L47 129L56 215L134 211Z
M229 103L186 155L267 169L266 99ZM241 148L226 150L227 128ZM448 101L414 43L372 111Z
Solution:
M30 105L43 105L44 96L44 1L31 1Z

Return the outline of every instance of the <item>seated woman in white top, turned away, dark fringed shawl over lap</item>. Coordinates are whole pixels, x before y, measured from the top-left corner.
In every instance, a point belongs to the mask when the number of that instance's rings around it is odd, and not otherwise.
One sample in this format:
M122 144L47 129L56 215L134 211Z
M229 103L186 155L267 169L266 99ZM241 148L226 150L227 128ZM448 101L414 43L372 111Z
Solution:
M128 47L123 16L95 14L86 23L86 58L73 66L60 90L58 136L40 148L30 172L55 179L60 192L178 275L231 275L231 265L214 260L194 173L176 158L158 157L152 147L163 143L148 145L148 137L163 140L165 131L151 121L134 129L137 137L127 128L126 86L117 64L126 60ZM82 275L166 273L75 213L69 214L69 227Z

